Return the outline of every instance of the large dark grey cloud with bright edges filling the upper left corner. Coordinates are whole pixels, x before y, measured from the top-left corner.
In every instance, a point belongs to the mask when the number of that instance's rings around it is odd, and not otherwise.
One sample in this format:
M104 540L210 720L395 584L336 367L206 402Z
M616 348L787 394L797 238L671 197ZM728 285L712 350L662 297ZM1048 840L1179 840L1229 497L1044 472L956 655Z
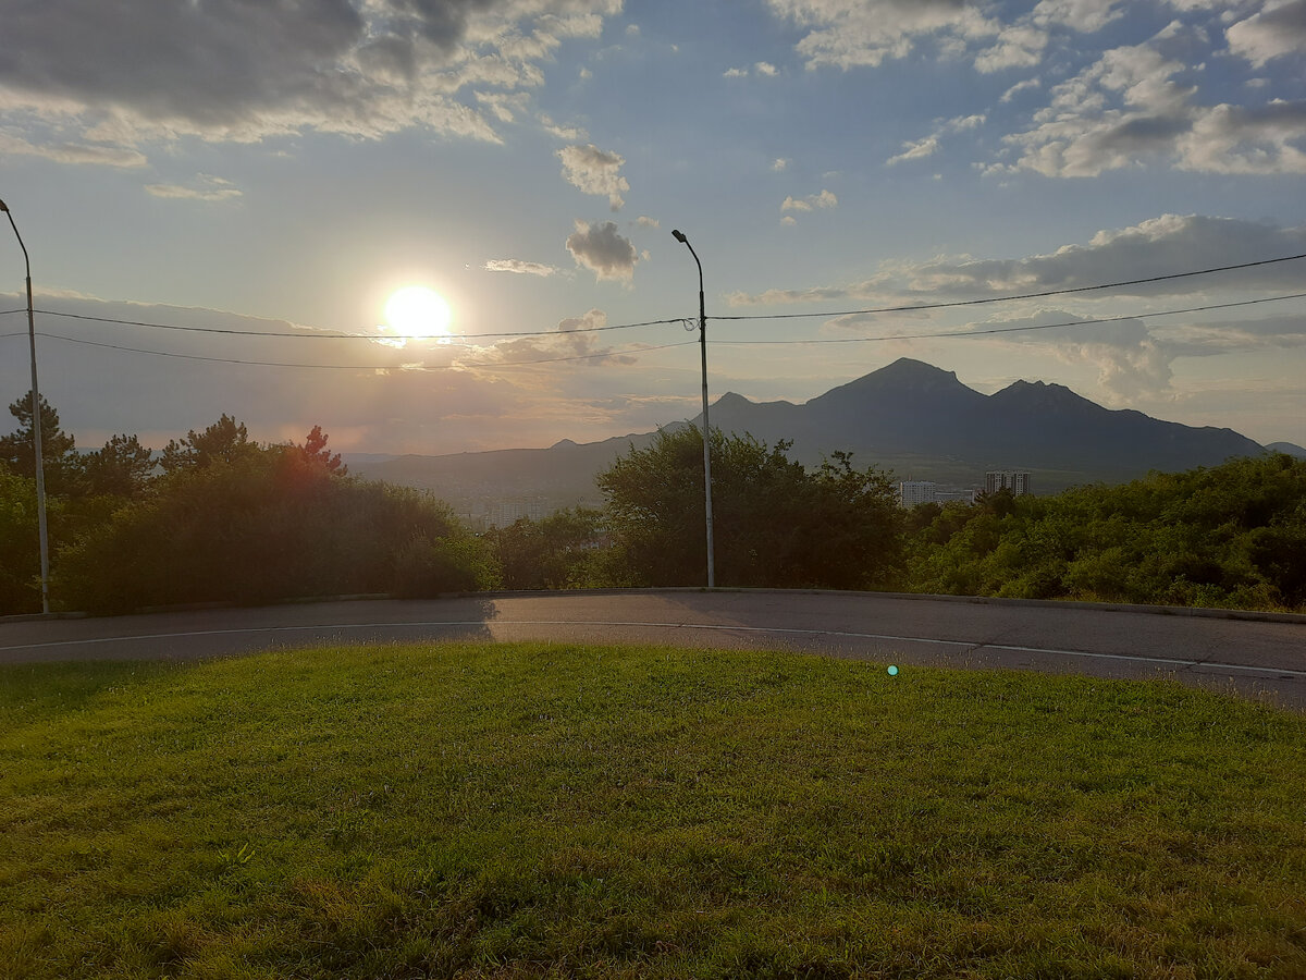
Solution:
M141 16L138 0L29 4L5 17L0 124L43 155L112 166L137 166L124 162L132 152L187 136L376 139L422 128L498 141L511 94L537 88L565 39L598 38L620 8L277 0L151 4ZM482 108L468 97L485 97Z

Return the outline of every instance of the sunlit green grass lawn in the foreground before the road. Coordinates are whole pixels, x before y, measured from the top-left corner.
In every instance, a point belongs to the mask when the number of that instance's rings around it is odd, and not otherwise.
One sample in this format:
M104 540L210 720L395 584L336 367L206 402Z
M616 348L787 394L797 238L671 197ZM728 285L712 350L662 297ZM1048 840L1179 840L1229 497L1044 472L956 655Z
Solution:
M0 670L0 976L1302 977L1306 717L567 645Z

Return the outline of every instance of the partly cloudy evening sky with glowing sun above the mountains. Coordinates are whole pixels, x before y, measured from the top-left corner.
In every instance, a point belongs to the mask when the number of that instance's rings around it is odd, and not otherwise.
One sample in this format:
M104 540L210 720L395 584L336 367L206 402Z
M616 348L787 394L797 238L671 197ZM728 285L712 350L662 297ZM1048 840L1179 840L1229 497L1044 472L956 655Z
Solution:
M0 199L86 449L691 418L673 229L713 400L910 357L1306 444L1306 0L0 0Z

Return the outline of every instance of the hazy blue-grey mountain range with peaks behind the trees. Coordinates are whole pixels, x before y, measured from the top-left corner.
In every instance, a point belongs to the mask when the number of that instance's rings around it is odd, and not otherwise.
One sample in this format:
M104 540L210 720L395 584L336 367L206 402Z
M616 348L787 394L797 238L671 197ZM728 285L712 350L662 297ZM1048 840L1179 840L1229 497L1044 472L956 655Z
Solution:
M1059 384L1016 382L983 395L961 384L952 371L909 358L803 405L756 402L731 392L712 406L710 419L716 429L750 433L767 443L791 440L791 456L810 465L844 449L853 453L855 465L889 468L900 480L964 487L982 486L990 469L1024 469L1033 474L1036 493L1123 482L1153 469L1218 465L1230 456L1264 451L1230 429L1199 429L1130 409L1106 409ZM547 449L400 456L350 469L451 499L538 495L568 506L597 502L593 476L631 446L648 446L653 435L581 446L563 440ZM1284 451L1293 449L1306 453L1301 447Z

